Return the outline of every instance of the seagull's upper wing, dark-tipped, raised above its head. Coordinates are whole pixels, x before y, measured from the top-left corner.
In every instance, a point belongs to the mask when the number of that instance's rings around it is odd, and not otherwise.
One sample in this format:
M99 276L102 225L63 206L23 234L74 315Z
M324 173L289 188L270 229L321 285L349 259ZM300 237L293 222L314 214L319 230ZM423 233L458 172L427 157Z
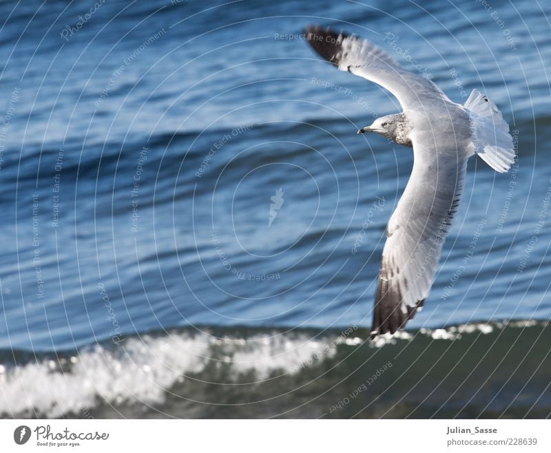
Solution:
M402 109L434 107L435 102L451 103L432 81L405 70L377 45L356 36L337 34L319 25L306 27L306 39L324 59L342 71L366 78L388 89Z

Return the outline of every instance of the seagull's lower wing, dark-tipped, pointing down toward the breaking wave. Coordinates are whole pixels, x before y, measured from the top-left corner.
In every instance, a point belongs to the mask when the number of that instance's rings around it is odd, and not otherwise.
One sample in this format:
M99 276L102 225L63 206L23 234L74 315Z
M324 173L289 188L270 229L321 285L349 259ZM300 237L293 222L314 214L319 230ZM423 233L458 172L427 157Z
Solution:
M373 337L395 333L423 306L464 184L468 158L464 150L442 149L427 131L413 135L413 151L408 185L386 227ZM449 158L454 154L457 158Z

